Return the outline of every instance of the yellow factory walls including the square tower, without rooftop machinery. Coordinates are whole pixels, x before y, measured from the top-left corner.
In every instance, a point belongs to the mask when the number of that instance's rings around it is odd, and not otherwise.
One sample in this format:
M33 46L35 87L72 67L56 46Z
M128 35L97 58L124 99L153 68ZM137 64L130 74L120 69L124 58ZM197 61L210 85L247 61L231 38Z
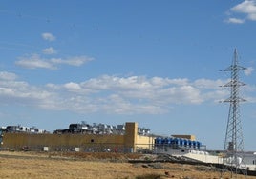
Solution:
M138 124L126 123L124 135L98 135L98 134L30 134L30 133L5 133L3 136L3 148L21 149L28 146L29 149L51 150L89 147L102 149L125 149L124 151L136 151L137 148L151 149L154 139L138 135ZM99 149L100 148L100 149Z

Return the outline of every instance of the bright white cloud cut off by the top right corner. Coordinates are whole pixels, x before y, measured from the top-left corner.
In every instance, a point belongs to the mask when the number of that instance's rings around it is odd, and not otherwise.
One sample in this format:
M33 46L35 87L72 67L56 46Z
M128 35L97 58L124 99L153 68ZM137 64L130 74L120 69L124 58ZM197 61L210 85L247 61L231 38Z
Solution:
M245 18L236 18L230 17L227 23L234 23L234 24L243 24L245 20L256 21L256 0L245 0L242 3L232 7L229 10L229 15L233 16L233 13L236 15L245 14Z

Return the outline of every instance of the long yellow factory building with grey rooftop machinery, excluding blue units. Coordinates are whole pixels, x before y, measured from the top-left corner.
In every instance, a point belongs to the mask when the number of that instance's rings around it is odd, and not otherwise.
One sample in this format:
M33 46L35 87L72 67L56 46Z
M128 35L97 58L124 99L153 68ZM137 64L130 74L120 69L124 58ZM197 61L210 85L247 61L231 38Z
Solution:
M84 128L85 126L87 128ZM97 126L100 129L94 129L88 125L71 124L69 129L58 129L54 133L17 132L16 130L4 132L2 148L88 152L152 150L155 138L149 135L148 129L140 129L137 123L126 123L125 130L122 130L124 128L120 126L119 128Z

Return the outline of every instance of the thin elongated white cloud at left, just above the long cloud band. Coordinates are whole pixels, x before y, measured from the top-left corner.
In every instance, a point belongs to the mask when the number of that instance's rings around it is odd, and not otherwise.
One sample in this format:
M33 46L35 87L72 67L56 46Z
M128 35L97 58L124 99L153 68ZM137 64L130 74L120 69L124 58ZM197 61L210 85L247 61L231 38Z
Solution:
M81 66L86 62L94 60L93 58L86 56L75 56L67 59L61 58L41 58L38 54L32 54L31 56L19 57L19 60L15 62L16 65L28 68L28 69L50 69L56 70L57 65L66 64L70 66Z

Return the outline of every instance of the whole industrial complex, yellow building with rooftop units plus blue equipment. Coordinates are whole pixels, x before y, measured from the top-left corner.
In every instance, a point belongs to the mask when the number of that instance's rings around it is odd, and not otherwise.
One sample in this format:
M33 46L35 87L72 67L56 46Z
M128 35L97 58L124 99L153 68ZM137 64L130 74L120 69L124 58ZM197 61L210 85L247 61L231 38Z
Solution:
M194 135L160 136L136 122L124 125L71 124L53 133L36 128L8 126L1 129L1 149L73 152L140 152L186 157L193 161L223 164L224 152L209 151ZM228 159L232 162L232 158ZM256 153L247 152L246 169L256 170Z

